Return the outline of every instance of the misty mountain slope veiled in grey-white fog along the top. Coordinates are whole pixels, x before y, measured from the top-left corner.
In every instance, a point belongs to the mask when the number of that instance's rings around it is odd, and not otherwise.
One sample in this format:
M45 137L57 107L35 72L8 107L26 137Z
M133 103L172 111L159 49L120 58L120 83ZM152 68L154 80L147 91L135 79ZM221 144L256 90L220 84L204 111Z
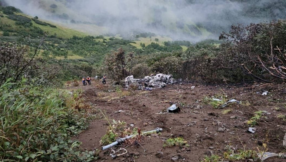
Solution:
M232 24L286 17L284 0L1 0L31 16L57 21L90 34L124 38L152 32L172 39L218 38Z

